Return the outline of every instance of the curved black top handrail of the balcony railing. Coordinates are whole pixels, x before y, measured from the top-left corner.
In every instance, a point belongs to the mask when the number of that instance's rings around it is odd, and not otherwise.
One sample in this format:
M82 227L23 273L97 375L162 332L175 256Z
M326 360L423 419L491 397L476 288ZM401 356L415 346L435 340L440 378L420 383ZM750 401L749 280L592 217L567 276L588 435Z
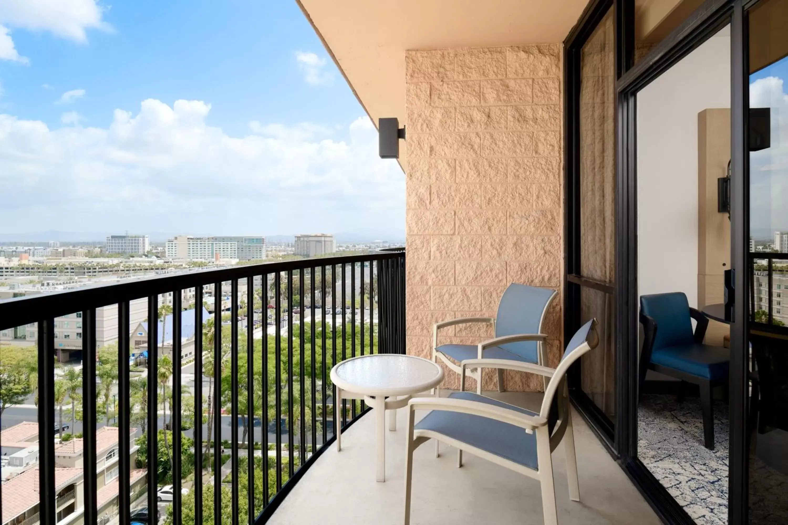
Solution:
M366 253L336 257L312 257L295 261L273 261L261 264L240 264L230 268L207 268L171 275L154 275L123 283L106 283L78 290L62 290L19 298L0 300L0 330L8 330L35 323L46 317L60 317L84 309L117 305L173 290L202 287L232 279L247 279L257 275L321 268L352 262L381 261L402 257L403 252Z

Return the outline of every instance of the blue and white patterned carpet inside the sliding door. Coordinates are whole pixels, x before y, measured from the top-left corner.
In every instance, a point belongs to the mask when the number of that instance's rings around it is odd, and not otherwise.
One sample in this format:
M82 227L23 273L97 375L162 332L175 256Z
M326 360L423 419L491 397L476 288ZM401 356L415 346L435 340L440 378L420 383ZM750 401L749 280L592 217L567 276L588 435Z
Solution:
M715 402L714 450L703 446L697 397L644 395L638 410L638 457L699 525L727 523L727 410Z

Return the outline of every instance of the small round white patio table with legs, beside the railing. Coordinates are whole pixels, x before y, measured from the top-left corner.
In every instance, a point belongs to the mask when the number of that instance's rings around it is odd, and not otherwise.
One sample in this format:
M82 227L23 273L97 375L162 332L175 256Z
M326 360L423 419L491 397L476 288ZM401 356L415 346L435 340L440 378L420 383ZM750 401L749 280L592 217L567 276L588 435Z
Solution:
M331 381L336 386L334 407L340 407L338 414L343 399L363 399L375 411L377 481L386 480L385 411L389 411L388 430L396 431L396 409L406 406L411 395L438 386L443 377L443 368L431 360L394 353L351 357L331 369ZM337 451L342 449L341 428L338 419Z

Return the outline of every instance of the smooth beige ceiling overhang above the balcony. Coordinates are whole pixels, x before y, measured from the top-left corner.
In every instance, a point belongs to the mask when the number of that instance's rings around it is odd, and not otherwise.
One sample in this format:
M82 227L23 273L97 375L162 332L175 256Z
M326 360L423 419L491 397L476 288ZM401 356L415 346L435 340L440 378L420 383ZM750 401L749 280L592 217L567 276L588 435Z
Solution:
M377 126L384 116L406 124L406 50L561 43L587 0L296 2Z

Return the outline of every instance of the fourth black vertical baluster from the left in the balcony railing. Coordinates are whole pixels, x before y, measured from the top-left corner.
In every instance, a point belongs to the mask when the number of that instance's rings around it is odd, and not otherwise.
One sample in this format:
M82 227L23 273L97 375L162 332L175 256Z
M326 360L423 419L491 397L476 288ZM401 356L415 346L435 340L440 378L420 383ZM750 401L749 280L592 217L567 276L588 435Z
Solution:
M148 510L158 509L158 295L148 297L147 491ZM84 326L84 324L83 324ZM87 357L85 359L88 359ZM83 372L84 374L84 372ZM84 377L84 376L83 376ZM93 382L95 384L95 381ZM86 411L87 413L87 411Z

